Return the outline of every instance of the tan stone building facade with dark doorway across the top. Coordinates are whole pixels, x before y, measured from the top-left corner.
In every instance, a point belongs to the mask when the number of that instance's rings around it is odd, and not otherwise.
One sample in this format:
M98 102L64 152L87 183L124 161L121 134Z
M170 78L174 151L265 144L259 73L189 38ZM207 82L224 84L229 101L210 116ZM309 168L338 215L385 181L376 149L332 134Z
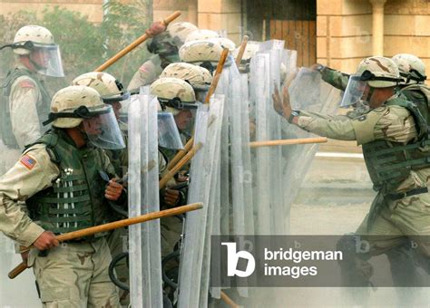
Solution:
M41 13L60 5L100 23L106 0L0 0L0 14ZM123 0L132 1L132 0ZM153 18L181 11L179 21L226 30L239 43L285 39L298 49L299 64L327 64L354 72L367 56L414 53L430 67L430 1L427 0L152 0Z

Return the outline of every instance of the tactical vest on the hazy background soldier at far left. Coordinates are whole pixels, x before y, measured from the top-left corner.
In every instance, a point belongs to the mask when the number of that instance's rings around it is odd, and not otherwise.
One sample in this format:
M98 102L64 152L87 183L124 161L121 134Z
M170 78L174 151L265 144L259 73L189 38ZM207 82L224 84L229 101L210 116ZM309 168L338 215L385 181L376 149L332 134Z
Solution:
M41 131L45 130L42 126L42 121L48 119L49 106L51 103L51 96L44 87L44 83L40 81L34 73L20 68L15 68L14 71L8 72L5 82L3 82L3 84L1 85L1 88L3 88L3 97L0 101L0 137L6 146L15 149L18 149L18 144L15 140L15 136L12 130L9 98L11 94L12 84L17 78L21 76L29 76L36 83L36 86L42 95L41 101L38 101L36 104L37 115L39 117L39 120L41 121Z

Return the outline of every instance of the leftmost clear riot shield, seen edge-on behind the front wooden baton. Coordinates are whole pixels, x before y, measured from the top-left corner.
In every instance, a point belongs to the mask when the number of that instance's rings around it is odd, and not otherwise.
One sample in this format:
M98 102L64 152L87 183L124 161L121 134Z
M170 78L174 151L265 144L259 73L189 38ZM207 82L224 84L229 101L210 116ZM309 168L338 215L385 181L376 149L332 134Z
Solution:
M139 94L129 108L129 217L159 211L157 99ZM129 228L130 290L135 307L161 307L160 221Z

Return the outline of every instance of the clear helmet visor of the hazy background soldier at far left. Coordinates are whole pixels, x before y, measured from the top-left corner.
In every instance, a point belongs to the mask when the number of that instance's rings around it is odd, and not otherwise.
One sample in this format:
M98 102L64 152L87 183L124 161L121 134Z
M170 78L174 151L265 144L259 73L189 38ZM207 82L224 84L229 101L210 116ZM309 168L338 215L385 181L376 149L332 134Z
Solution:
M34 43L30 58L37 72L51 77L64 77L60 48L57 44Z

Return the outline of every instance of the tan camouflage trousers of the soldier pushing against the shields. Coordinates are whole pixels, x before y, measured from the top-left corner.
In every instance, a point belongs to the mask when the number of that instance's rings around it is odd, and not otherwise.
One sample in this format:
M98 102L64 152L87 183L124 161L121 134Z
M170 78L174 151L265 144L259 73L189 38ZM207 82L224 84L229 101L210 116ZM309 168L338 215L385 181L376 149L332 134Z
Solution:
M360 240L366 240L367 257L386 254L396 285L422 285L422 277L414 272L420 265L430 274L430 194L387 201L370 226L368 217L356 231ZM366 286L374 270L366 258L357 255L353 263L344 266L343 279ZM401 271L408 273L396 274Z

